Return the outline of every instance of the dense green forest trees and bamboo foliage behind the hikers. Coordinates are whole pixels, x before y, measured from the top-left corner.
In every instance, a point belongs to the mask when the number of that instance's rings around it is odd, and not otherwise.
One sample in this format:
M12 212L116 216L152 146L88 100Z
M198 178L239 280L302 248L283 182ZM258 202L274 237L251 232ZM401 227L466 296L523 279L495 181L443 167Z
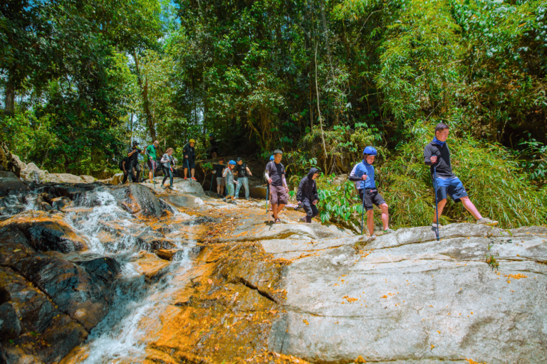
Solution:
M8 0L1 139L102 176L131 138L175 155L194 138L205 157L214 134L221 154L284 149L293 183L302 161L348 173L372 144L406 226L429 220L421 153L442 121L486 213L545 223L546 15L547 0ZM323 193L323 218L358 214Z

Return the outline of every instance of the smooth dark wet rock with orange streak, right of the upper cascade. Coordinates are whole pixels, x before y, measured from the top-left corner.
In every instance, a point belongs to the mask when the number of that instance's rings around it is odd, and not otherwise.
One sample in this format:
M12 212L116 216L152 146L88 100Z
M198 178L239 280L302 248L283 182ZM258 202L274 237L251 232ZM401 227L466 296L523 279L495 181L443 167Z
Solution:
M147 217L159 218L165 211L162 210L159 200L154 193L145 186L137 183L111 187L110 193L118 200L118 203L129 213L140 213Z

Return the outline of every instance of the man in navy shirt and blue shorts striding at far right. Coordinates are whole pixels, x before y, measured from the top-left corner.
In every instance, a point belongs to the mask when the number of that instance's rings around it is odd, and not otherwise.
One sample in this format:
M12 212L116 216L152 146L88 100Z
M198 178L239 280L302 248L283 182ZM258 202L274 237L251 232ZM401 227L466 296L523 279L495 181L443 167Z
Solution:
M449 127L447 124L439 123L435 127L435 137L431 143L427 144L424 149L424 163L430 166L431 177L437 190L437 210L439 216L442 215L444 205L447 203L447 195L454 200L455 203L460 201L464 204L464 208L473 215L476 223L480 225L497 225L497 221L489 218L483 218L476 209L475 205L469 200L464 184L452 173L452 164L450 163L450 149L448 148L447 139ZM434 168L437 168L437 178L434 178ZM436 230L442 226L438 224L437 213L433 216L432 228Z

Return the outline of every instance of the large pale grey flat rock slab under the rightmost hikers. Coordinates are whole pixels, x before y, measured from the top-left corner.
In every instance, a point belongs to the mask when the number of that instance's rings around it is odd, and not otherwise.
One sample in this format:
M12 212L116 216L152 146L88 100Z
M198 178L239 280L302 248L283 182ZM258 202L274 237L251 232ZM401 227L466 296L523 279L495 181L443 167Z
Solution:
M269 350L312 363L546 361L547 267L538 262L547 260L547 229L516 238L454 224L439 242L427 230L311 246L262 242L292 260ZM498 272L486 263L489 253L499 253Z

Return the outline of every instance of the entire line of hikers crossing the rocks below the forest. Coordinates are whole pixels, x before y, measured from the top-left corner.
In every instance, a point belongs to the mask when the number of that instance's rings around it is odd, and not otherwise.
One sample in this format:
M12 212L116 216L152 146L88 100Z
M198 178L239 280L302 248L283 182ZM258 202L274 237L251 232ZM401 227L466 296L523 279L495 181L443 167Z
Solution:
M447 124L439 123L435 127L435 136L433 140L425 146L424 149L424 164L430 166L430 172L435 192L435 215L432 218L432 228L437 231L437 237L439 228L442 226L439 224L439 216L442 215L444 206L447 203L447 196L452 198L455 203L462 202L464 208L473 215L477 224L484 225L496 225L498 222L489 218L484 218L479 213L479 210L475 207L472 201L467 195L462 181L454 175L452 172L452 164L450 161L450 150L447 144L447 138L449 135L449 127ZM212 135L209 135L212 143L212 156L217 156L217 141L214 140ZM190 139L189 143L184 146L183 155L184 161L184 180L187 179L188 173L191 179L196 181L194 177L195 171L195 141ZM123 183L127 181L127 176L130 174L132 181L138 181L140 175L140 166L138 164L138 155L145 154L147 158L147 166L150 170L149 178L152 183L154 178L154 172L157 168L157 147L158 141L154 141L153 144L147 146L145 151L138 148L139 143L133 141L132 147L127 150L127 158L122 161L121 168L124 172ZM173 167L175 166L175 160L172 156L173 149L169 148L165 151L160 159L160 165L164 173L162 186L164 186L167 178L170 178L170 186L173 185ZM377 150L373 146L367 146L363 150L363 160L358 164L355 164L353 170L350 173L349 180L355 183L355 188L358 191L359 198L363 206L363 220L364 212L367 215L367 227L370 236L376 237L374 232L374 205L380 208L381 220L382 220L382 232L388 234L393 232L389 227L389 206L385 199L378 193L376 181L375 181L375 169L374 161L377 157ZM277 149L273 151L273 155L270 157L268 164L264 171L264 178L268 182L268 196L271 201L271 217L274 223L281 223L279 219L279 213L283 210L288 203L288 184L286 181L285 166L281 163L283 158L283 151ZM135 170L135 171L134 171ZM135 176L136 172L136 176ZM249 199L249 176L252 176L249 166L244 163L241 157L238 157L236 161L230 160L227 165L224 165L224 159L220 158L218 164L213 165L213 173L217 178L217 197L221 197L224 194L224 188L226 188L226 197L224 201L227 203L234 203L239 196L241 187L245 190L245 198ZM310 168L308 175L301 179L298 183L298 191L296 193L296 200L298 206L306 211L306 216L301 218L303 223L311 223L312 219L318 215L317 203L319 201L319 195L317 190L316 178L321 174L319 168ZM237 180L234 178L237 176ZM164 186L165 187L165 186ZM362 221L363 229L363 221Z

